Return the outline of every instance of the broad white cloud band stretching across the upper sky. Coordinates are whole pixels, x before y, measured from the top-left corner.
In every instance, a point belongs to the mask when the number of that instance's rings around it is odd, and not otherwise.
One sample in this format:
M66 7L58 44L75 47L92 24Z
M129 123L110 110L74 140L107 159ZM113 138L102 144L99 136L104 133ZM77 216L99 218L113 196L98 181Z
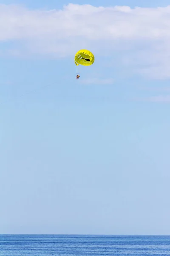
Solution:
M119 50L119 61L131 71L170 78L170 6L69 4L62 10L30 10L1 4L0 41L15 42L6 49L14 56L22 52L65 57L81 48L113 56Z

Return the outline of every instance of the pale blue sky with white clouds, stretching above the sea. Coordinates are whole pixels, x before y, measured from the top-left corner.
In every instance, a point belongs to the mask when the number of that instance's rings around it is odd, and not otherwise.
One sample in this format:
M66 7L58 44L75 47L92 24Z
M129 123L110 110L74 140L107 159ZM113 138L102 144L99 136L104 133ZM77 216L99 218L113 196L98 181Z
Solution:
M55 2L0 5L0 232L169 234L168 1Z

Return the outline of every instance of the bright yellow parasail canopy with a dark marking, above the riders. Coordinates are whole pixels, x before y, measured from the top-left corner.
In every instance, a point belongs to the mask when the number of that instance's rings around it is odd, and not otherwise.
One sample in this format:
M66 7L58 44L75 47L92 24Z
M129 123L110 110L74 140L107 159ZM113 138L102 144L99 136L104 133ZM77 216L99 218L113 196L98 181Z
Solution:
M80 50L76 53L74 62L76 66L79 64L83 66L90 66L94 63L94 55L88 50Z

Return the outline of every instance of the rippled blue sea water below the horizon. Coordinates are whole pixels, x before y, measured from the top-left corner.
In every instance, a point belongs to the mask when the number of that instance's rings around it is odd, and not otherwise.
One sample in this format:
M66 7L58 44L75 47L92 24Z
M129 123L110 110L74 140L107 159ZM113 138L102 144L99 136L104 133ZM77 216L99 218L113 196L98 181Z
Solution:
M0 256L169 256L170 236L0 235Z

